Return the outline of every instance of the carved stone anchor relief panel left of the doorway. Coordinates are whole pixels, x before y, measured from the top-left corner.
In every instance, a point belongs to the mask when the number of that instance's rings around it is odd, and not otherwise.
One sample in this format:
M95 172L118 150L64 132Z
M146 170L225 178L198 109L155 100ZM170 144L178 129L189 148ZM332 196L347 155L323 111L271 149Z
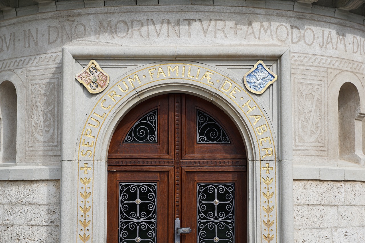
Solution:
M55 69L29 68L26 72L27 88L27 138L28 161L41 157L52 157L59 152L59 78ZM45 150L49 151L45 153ZM49 158L50 158L49 157ZM59 159L54 157L54 159Z

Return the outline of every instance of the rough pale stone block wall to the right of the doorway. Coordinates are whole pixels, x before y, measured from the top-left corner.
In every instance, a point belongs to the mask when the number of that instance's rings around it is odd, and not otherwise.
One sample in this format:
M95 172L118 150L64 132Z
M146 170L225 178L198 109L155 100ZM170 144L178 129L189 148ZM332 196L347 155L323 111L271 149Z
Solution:
M361 243L365 182L294 180L295 243Z

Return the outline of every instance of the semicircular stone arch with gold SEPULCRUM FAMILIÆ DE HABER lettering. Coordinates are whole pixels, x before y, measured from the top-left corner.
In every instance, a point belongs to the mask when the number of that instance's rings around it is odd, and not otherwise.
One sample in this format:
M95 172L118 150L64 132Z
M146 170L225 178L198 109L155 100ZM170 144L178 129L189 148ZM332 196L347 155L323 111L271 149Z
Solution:
M268 115L234 77L212 66L188 61L150 63L121 77L124 78L113 81L91 105L79 134L76 160L105 161L111 136L124 114L141 100L171 92L197 95L226 110L241 130L249 160L276 159Z

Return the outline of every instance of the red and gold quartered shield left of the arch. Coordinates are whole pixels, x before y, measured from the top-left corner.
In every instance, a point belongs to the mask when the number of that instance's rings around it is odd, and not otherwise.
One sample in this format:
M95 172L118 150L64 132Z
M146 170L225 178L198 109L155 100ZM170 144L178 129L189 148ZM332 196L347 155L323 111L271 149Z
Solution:
M109 75L95 60L91 60L80 73L76 74L75 78L92 94L102 92L109 84Z

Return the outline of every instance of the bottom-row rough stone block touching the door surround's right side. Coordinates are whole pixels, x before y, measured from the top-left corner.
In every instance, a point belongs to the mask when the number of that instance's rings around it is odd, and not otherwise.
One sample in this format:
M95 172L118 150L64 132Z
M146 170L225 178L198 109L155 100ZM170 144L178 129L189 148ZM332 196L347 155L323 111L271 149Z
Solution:
M331 229L294 229L294 243L332 243Z

